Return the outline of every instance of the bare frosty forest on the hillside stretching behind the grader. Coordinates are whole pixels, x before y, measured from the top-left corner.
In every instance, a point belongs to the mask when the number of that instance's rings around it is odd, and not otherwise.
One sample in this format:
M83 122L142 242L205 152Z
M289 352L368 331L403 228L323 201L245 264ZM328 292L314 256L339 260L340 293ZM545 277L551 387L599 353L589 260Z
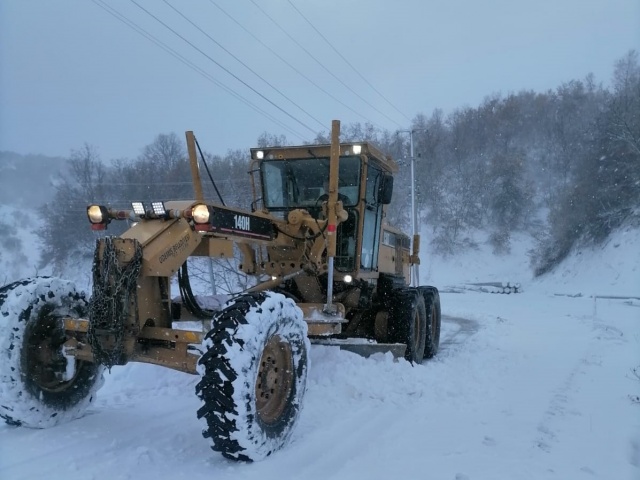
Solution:
M616 227L637 223L638 112L640 63L631 51L616 63L609 87L587 76L547 92L497 93L475 107L416 115L411 130L417 204L435 250L446 255L474 248L481 231L496 253L506 252L514 232L529 232L538 241L533 267L543 273L574 246L602 241ZM390 220L405 230L410 223L407 133L343 124L341 135L343 141L374 142L399 162ZM265 133L253 146L286 143L283 135ZM309 143L329 139L318 135ZM210 174L227 205L249 208L248 148L205 152L205 157L206 196L218 199ZM90 202L127 208L132 200L193 198L182 135L160 134L132 160L106 160L89 145L72 152L68 173L55 182L37 231L43 264L62 268L72 255L91 255L95 233L85 217ZM6 162L3 166L4 185L9 173ZM109 233L117 228L112 224Z

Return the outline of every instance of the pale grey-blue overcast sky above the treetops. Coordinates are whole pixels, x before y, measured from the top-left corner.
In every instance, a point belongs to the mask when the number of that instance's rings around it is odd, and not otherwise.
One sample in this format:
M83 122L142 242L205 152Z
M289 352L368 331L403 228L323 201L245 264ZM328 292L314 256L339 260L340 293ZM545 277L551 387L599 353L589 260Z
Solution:
M640 50L640 0L104 1L0 0L0 150L133 158L194 130L224 154L332 119L406 129L495 92L608 85Z

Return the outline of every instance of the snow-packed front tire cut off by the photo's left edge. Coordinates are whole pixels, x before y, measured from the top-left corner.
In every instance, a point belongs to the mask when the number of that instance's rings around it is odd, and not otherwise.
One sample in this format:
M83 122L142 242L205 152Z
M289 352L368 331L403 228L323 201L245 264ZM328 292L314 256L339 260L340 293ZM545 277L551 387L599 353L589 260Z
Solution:
M63 317L86 313L84 293L58 278L0 288L0 418L47 428L81 417L103 384L103 367L65 356Z

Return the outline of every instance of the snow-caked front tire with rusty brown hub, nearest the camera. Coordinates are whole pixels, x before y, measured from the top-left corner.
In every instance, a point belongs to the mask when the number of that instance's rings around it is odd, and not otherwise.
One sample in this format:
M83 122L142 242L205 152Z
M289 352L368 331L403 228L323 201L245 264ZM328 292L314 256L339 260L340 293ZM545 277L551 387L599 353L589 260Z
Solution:
M243 295L214 316L196 385L198 418L213 450L257 461L287 443L302 407L310 348L302 311L282 294Z

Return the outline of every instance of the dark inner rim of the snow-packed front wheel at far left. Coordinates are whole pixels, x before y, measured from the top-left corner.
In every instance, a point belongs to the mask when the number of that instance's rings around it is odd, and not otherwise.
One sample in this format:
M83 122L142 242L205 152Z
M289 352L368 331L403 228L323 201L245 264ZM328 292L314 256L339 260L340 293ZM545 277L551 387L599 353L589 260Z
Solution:
M59 328L58 320L53 315L41 315L33 325L26 342L25 371L28 378L47 392L66 390L73 384L79 372L79 368L76 366L73 377L63 380L66 374L67 360L61 353L65 338Z

